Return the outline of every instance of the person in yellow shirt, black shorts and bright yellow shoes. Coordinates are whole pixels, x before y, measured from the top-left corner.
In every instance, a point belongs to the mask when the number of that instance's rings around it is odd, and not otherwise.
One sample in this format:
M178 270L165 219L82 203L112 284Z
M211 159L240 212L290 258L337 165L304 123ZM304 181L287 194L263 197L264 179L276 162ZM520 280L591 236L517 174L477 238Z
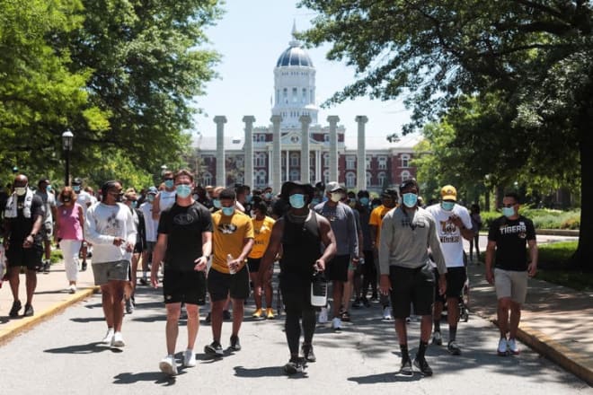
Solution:
M260 282L258 271L260 270L260 261L263 253L266 252L268 244L270 244L271 228L274 226L273 218L267 216L268 206L263 201L258 201L253 204L252 211L255 218L252 218L253 233L255 239L253 241L252 251L247 257L247 265L249 266L249 276L253 283L253 299L255 300L255 312L253 318L261 318L263 312L261 311L261 291L263 288L266 294L266 318L272 320L275 318L274 310L272 309L272 286L271 276L274 270L273 266L266 273L263 279L263 284Z

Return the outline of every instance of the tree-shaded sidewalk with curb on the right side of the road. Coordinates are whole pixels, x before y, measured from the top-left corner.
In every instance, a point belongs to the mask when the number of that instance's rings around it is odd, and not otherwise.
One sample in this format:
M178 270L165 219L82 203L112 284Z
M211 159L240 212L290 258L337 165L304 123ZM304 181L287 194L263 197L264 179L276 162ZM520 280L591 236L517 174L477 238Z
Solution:
M496 321L494 286L484 265L470 265L470 311ZM521 312L518 339L593 385L593 294L532 278Z

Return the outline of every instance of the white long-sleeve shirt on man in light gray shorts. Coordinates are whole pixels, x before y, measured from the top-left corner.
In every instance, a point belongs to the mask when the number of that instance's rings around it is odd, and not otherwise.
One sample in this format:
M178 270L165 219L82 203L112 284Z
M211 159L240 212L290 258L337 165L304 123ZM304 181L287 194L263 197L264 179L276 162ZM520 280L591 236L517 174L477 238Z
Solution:
M88 194L87 194L88 195ZM93 243L93 264L130 260L132 253L125 243L113 244L116 237L136 244L136 225L132 211L123 203L113 206L97 203L90 206L84 218L84 239Z

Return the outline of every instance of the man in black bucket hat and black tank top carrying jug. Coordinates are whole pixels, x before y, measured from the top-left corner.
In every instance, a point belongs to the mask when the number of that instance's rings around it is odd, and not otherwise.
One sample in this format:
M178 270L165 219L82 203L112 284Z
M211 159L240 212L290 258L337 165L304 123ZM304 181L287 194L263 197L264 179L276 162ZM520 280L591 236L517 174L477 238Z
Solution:
M314 362L313 335L315 310L311 305L311 281L314 271L323 271L325 263L336 253L332 226L322 215L308 208L314 189L309 184L288 181L282 185L281 198L290 205L288 212L272 228L270 245L261 259L261 279L274 263L282 247L280 259L280 292L286 310L285 329L290 360L284 365L288 374L301 373L305 362ZM321 244L325 249L322 251ZM298 342L303 324L303 356L298 355Z

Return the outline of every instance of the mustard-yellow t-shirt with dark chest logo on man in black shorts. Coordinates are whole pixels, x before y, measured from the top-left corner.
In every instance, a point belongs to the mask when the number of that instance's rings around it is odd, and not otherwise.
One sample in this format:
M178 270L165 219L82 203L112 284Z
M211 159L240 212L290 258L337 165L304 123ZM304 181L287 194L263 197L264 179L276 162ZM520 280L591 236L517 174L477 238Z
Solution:
M221 273L228 273L226 256L231 254L233 258L237 258L243 251L243 241L253 238L252 219L238 210L230 216L223 215L222 210L219 210L212 214L212 224L212 268ZM243 266L244 262L239 269Z

